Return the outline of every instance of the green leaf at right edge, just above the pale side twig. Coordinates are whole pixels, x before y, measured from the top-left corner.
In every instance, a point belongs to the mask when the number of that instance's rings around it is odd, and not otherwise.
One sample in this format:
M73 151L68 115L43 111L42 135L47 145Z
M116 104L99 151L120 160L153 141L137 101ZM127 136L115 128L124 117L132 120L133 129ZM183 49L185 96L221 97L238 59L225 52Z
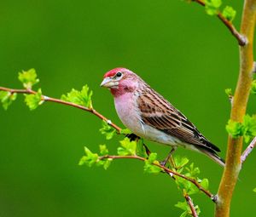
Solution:
M249 142L249 140L256 136L256 115L252 117L246 115L243 117L242 132L246 142Z

